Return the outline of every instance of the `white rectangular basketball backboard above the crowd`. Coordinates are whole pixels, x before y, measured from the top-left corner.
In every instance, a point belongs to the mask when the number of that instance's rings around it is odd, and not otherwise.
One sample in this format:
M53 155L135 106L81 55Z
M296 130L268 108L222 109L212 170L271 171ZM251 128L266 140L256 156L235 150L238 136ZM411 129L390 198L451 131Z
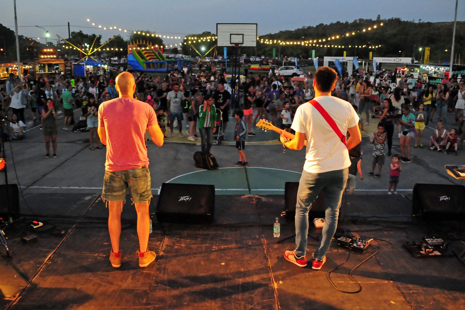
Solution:
M216 24L218 46L257 46L257 24Z

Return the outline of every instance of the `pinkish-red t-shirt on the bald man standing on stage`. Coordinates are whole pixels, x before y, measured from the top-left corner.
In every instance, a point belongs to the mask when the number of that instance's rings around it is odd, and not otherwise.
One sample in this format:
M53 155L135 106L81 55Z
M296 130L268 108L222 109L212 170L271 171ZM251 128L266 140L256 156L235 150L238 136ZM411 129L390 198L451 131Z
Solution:
M153 108L133 98L115 98L99 107L99 126L106 131L107 171L135 169L149 161L145 146L147 126L156 125Z

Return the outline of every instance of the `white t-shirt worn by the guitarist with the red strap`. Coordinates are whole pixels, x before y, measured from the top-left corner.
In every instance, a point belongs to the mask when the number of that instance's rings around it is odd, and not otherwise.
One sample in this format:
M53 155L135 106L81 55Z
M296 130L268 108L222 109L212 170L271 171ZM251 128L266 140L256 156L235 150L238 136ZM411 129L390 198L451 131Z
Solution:
M349 102L332 96L319 96L315 100L334 119L343 134L348 128L359 124L359 116ZM305 171L321 173L351 165L344 143L309 102L297 108L291 128L306 135Z

